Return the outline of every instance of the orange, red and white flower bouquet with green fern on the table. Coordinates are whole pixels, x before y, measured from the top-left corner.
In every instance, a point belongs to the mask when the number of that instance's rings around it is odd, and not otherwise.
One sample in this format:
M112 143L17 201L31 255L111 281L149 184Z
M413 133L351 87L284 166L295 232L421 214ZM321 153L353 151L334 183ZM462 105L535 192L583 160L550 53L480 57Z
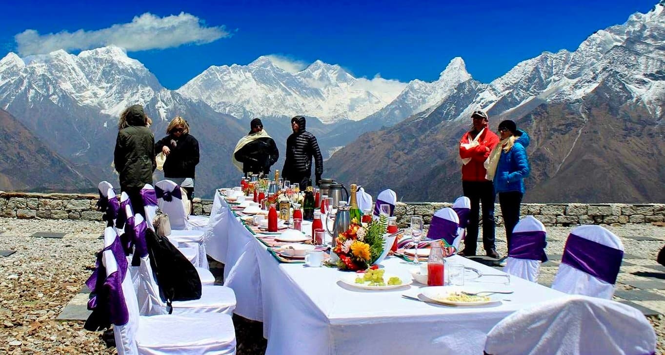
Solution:
M353 218L348 229L335 238L333 251L339 256L340 270L365 270L381 256L384 248L383 234L388 218L381 216L366 226Z

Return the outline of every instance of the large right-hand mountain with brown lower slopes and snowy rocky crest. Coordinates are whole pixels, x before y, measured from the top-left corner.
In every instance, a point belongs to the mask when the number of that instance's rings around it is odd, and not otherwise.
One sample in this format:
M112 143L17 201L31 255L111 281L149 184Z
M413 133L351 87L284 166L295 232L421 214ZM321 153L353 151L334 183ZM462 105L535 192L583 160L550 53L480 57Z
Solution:
M370 193L452 201L462 192L459 139L483 109L492 129L511 119L531 135L526 201L662 202L664 10L661 1L489 84L464 81L435 107L349 143L326 173Z

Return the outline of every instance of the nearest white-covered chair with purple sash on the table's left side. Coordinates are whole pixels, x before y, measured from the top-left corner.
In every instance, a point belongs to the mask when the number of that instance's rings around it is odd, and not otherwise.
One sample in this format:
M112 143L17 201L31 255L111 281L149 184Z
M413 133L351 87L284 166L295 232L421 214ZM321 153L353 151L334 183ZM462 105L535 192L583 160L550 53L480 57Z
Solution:
M110 290L108 304L98 306L109 310L118 354L235 354L235 329L228 314L140 316L117 236L114 243L104 249L100 268Z

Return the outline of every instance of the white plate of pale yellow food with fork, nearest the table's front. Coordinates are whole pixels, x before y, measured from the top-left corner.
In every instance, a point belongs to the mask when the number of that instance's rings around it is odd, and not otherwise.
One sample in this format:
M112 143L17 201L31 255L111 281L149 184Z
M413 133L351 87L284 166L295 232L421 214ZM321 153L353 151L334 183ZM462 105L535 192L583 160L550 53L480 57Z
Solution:
M432 286L422 288L420 294L429 300L447 306L483 306L501 303L497 294L490 292L491 290L487 287Z

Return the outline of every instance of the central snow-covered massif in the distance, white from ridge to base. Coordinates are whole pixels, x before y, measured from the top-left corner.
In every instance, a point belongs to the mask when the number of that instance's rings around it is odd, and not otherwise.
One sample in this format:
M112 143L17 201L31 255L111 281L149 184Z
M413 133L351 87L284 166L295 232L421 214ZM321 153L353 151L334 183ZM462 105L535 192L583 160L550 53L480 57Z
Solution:
M269 57L259 57L249 65L209 67L178 93L238 118L307 115L332 123L364 119L388 105L404 85L370 85L368 79L322 61L291 73Z

